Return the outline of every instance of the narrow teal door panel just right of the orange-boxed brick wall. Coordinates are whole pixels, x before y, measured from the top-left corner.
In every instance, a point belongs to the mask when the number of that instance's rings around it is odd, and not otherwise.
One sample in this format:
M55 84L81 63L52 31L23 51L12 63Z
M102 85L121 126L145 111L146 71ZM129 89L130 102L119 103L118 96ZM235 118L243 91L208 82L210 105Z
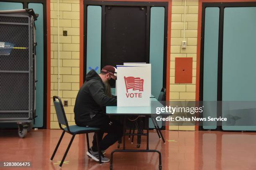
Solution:
M205 8L203 117L217 116L217 105L207 101L217 101L219 15L219 7ZM203 122L203 128L216 129L217 123Z

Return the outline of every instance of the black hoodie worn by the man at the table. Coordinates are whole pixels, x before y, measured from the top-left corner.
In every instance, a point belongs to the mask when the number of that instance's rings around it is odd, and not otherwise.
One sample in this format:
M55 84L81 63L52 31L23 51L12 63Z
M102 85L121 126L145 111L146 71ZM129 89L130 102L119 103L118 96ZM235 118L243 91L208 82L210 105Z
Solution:
M77 125L100 125L108 116L105 106L116 105L114 97L105 95L105 85L100 76L91 70L86 75L86 80L80 88L74 105L74 119Z

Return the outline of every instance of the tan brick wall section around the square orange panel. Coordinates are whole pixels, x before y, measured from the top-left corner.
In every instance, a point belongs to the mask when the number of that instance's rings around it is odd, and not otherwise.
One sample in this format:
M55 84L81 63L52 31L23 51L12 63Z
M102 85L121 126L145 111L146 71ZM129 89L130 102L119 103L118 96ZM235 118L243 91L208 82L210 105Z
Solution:
M171 25L171 63L170 63L170 100L195 100L196 83L196 55L197 55L197 20L198 0L187 0L185 20L185 40L187 48L182 49L181 44L184 32L184 0L172 0ZM175 58L192 57L192 84L176 84ZM195 126L178 126L172 124L170 130L195 130Z

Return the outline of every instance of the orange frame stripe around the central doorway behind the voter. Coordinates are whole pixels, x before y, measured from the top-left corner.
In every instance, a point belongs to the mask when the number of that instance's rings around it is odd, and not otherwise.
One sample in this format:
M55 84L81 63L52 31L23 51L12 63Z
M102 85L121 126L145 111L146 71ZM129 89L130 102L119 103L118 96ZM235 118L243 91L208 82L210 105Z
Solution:
M105 0L108 1L108 0ZM127 0L109 0L109 1L127 1ZM166 53L166 99L169 100L170 91L170 55L171 55L171 16L172 1L171 0L129 0L131 2L169 2L168 3L168 24L167 24L167 53ZM80 0L80 70L79 85L83 84L84 77L84 0ZM82 38L81 38L82 37ZM166 122L166 130L169 130L169 122Z

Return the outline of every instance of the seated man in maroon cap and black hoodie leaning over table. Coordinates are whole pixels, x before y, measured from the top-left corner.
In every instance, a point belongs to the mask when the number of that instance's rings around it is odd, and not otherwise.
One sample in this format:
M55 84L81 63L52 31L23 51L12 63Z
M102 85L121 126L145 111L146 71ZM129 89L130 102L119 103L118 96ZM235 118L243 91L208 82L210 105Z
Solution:
M116 80L116 68L111 65L103 67L100 74L97 74L95 70L88 72L74 105L74 119L78 126L100 128L99 144L102 162L109 161L103 155L105 150L123 136L123 126L115 120L110 120L105 114L105 106L117 104L114 96L106 95L106 87L111 78ZM108 134L102 139L104 133ZM87 155L96 161L100 159L95 135Z

